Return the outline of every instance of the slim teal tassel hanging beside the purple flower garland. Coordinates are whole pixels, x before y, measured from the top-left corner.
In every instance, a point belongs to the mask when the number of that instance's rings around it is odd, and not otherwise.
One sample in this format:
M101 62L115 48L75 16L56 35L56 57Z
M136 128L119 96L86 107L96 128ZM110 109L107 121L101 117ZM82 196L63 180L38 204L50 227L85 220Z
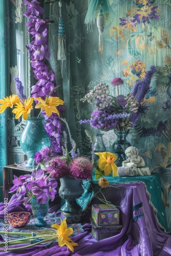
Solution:
M59 0L59 29L58 29L58 52L57 52L57 59L63 60L66 59L66 32L65 26L63 23L63 18L61 15L61 7L62 4Z

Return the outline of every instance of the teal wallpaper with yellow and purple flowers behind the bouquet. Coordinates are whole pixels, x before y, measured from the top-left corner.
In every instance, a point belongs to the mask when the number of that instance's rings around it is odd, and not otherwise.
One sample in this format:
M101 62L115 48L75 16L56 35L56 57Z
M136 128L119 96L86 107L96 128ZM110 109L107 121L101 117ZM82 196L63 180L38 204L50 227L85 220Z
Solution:
M54 6L55 1L52 3L51 13ZM171 225L168 208L171 196L171 3L169 0L118 0L110 1L110 8L114 15L110 22L104 25L101 54L98 51L97 25L92 24L91 29L87 29L84 23L88 1L70 1L66 9L63 7L63 15L67 13L64 20L68 36L67 63L71 72L70 102L73 102L76 124L76 130L74 127L73 132L77 134L77 143L83 153L89 154L90 141L85 136L85 130L90 131L92 135L96 131L89 124L80 125L79 120L90 118L93 106L81 102L80 99L100 82L110 85L114 77L124 80L120 94L126 95L131 91L133 84L143 79L146 71L154 65L157 72L144 100L147 111L130 131L129 141L139 149L151 172L154 170L160 173L162 199L168 225ZM115 95L112 87L111 91ZM115 139L113 131L104 133L103 140L108 151L112 150Z

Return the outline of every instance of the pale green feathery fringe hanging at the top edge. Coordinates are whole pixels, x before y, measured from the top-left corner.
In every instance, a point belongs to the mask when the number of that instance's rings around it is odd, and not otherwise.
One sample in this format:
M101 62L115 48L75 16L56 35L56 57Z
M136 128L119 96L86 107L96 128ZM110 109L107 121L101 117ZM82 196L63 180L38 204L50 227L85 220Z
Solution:
M114 13L109 0L92 0L89 3L88 12L84 20L84 23L87 24L88 30L92 31L92 25L96 23L96 18L100 8L103 9L105 24L108 24L112 20Z

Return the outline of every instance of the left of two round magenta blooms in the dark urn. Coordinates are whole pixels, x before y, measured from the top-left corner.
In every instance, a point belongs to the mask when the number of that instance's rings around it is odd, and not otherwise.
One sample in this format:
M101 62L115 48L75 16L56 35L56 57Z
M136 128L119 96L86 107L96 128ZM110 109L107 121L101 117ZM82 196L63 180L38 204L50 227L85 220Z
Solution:
M70 173L66 159L61 157L54 157L50 161L50 165L46 168L46 173L50 174L52 178L60 179L66 177Z

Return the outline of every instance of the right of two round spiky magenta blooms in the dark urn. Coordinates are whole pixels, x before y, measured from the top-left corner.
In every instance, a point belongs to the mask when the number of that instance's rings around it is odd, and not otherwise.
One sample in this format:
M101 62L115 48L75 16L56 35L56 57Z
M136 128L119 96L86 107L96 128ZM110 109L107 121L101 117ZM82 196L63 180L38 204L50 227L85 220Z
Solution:
M70 161L70 173L75 179L87 180L91 178L93 164L86 157L77 157Z

